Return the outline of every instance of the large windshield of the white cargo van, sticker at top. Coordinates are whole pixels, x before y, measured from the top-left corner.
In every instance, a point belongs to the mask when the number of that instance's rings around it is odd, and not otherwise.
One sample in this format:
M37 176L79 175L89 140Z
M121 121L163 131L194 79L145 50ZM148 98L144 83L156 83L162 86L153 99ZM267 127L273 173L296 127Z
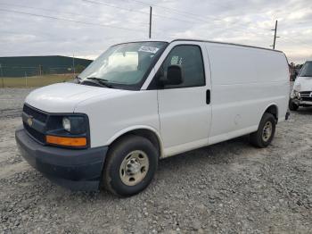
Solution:
M111 46L78 78L95 79L110 88L139 89L167 42L134 42Z

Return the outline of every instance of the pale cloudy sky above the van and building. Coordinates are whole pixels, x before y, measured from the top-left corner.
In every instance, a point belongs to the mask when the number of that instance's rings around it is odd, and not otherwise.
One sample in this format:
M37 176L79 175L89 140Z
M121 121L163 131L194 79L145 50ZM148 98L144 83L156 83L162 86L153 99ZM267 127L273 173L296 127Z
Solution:
M311 0L0 0L0 56L95 59L149 36L273 45L289 62L312 60Z

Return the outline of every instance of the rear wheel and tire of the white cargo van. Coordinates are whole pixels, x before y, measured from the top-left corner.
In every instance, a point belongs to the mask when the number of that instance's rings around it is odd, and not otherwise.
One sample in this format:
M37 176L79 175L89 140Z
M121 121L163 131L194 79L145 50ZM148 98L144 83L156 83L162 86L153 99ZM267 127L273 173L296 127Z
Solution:
M276 120L273 114L264 113L259 123L258 130L250 134L251 145L259 147L259 148L267 147L271 143L272 139L274 138L275 125L276 125Z

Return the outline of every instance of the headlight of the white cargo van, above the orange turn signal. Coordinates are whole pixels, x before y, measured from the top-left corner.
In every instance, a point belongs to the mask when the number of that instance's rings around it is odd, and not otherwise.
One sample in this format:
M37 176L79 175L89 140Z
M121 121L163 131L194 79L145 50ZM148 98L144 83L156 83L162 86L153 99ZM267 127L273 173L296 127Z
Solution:
M62 118L62 127L71 134L86 133L86 118L82 116L68 116Z

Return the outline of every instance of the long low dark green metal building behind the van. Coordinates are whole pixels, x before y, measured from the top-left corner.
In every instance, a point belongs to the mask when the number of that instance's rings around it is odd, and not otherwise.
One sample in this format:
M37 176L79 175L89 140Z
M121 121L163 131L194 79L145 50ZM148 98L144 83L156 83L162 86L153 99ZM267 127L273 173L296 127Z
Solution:
M30 77L46 74L79 73L92 60L59 55L0 57L1 77Z

